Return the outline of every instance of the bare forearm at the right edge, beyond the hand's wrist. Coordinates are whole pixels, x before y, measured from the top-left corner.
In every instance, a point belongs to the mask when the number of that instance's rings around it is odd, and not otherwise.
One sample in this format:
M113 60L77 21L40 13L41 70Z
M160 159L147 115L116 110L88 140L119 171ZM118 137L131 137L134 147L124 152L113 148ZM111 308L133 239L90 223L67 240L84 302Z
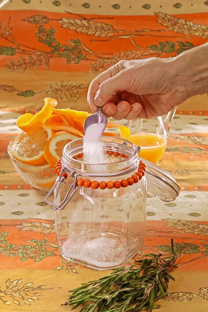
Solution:
M208 93L208 43L181 53L172 64L179 92L187 98Z

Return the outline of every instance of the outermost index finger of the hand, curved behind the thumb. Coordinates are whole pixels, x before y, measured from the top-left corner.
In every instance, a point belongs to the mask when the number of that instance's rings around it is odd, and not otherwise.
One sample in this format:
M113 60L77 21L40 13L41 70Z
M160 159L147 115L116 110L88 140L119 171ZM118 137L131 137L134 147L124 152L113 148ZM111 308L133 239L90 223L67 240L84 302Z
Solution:
M97 106L94 105L94 97L97 91L99 90L99 87L101 83L103 83L105 80L117 75L120 71L123 69L123 64L126 61L120 61L116 63L114 66L110 67L107 71L104 71L103 73L99 74L89 85L88 93L87 93L87 102L89 106L91 107L91 110L93 112L97 111Z

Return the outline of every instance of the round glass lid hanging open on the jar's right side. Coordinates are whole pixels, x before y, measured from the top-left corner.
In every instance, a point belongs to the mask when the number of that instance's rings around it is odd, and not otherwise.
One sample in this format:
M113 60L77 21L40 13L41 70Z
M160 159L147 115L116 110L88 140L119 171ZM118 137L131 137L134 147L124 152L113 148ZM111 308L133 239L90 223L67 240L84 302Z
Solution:
M180 187L172 175L148 160L139 159L146 165L147 192L164 202L176 200Z

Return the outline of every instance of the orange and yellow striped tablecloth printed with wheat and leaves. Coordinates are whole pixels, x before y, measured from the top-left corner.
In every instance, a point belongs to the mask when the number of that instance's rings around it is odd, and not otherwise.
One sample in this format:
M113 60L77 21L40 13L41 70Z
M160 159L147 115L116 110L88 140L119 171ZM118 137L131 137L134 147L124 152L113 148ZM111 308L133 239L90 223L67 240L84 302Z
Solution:
M18 176L7 154L19 132L18 116L41 109L45 96L56 97L59 108L89 110L89 82L120 59L168 57L206 42L207 5L204 0L0 1L1 311L68 311L61 306L68 290L105 274L60 256L46 193ZM61 81L70 81L69 88ZM168 253L172 237L181 254L161 312L207 311L207 104L207 94L186 101L171 124L160 166L177 179L179 197L165 203L148 195L147 236L136 257Z

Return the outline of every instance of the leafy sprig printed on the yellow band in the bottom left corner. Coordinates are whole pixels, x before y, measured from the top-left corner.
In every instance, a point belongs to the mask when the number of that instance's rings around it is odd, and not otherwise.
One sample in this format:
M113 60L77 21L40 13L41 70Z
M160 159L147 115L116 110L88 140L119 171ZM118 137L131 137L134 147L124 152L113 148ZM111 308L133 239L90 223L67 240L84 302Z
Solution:
M21 285L23 279L10 280L10 278L5 282L5 287L0 287L0 302L5 305L11 305L11 302L7 299L13 299L15 305L21 305L25 303L26 305L31 305L36 300L40 300L40 293L43 290L59 289L61 287L46 288L47 285L33 286L35 282L29 282ZM1 283L1 282L0 282ZM5 289L4 289L5 288ZM4 289L4 290L3 290Z

